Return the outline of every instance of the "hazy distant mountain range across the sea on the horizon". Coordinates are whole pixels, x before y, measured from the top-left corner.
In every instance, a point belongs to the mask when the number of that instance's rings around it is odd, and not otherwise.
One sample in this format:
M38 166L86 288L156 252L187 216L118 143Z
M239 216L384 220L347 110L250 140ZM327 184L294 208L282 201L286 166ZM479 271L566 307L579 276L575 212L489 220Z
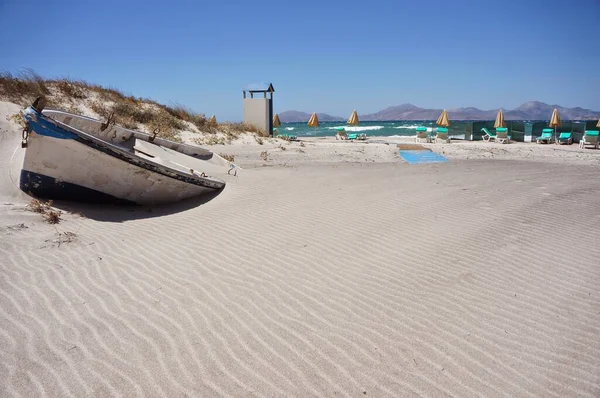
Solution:
M562 120L593 120L600 119L599 111L589 109L565 108L560 105L548 105L539 101L526 102L516 109L504 111L506 120L549 120L554 108L558 109ZM402 104L390 106L376 113L360 115L359 119L363 121L385 121L385 120L436 120L442 109L420 108L412 104ZM473 107L448 109L450 120L494 120L497 109L481 110ZM332 116L326 113L317 113L322 122L344 121L346 118ZM285 111L279 114L279 119L283 123L288 122L306 122L310 118L309 113L298 111Z

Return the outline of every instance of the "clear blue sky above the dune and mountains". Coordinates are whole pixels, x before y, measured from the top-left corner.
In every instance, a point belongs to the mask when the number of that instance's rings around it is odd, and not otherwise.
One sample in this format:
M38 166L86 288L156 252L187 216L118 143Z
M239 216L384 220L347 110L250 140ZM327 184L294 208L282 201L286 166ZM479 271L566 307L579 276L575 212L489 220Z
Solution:
M0 0L0 70L24 67L219 120L269 81L276 112L600 110L600 0Z

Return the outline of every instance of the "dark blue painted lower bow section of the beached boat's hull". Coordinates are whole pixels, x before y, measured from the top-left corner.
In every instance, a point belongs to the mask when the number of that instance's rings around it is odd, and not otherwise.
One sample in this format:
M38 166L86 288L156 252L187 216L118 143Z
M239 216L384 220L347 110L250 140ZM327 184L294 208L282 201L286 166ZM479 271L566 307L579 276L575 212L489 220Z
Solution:
M22 191L38 198L70 200L88 203L136 204L81 185L60 181L54 177L21 170L19 185Z

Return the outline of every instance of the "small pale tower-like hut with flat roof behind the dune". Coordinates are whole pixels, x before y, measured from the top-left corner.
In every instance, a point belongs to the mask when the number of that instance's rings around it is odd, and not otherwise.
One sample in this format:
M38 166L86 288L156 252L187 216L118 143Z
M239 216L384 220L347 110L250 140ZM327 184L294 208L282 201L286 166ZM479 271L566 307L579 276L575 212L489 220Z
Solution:
M244 123L248 123L264 132L268 132L269 135L273 135L274 92L275 89L271 83L250 84L243 90Z

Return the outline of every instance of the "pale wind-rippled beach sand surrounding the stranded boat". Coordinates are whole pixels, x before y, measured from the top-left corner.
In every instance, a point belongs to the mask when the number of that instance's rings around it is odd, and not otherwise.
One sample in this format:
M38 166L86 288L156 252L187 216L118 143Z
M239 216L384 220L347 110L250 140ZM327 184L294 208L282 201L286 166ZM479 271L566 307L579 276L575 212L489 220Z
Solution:
M2 397L600 396L599 151L239 143L208 203L49 225L18 134L0 118Z

